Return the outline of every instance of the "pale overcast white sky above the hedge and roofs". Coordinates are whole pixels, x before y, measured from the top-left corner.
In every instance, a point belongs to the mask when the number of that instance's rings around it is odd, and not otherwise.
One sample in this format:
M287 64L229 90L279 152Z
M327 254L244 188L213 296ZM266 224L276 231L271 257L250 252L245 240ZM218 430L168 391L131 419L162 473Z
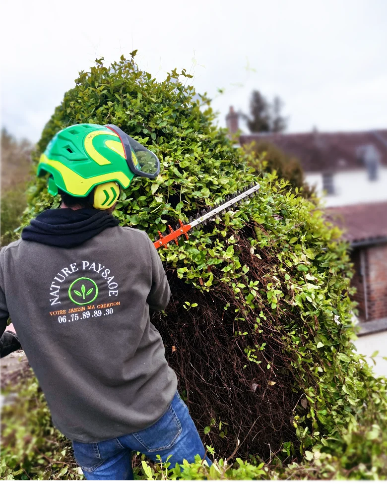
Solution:
M288 131L387 128L386 0L0 0L0 19L0 126L18 137L39 139L78 71L133 49L158 77L195 57L222 125L259 89Z

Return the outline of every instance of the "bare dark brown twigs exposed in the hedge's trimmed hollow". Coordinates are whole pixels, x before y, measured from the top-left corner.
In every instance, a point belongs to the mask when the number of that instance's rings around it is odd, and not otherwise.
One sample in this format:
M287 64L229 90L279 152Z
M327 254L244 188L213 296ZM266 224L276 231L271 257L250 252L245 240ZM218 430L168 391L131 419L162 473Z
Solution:
M263 251L261 259L251 254L243 236L238 237L238 245L240 261L250 267L250 279L266 287L272 257ZM212 270L219 280L221 276ZM165 316L155 316L152 322L162 334L167 359L177 373L179 389L187 392L187 404L202 436L204 427L211 426L203 440L210 440L218 455L227 455L234 450L238 434L242 443L237 455L263 458L270 458L264 442L270 442L271 453L284 441L296 442L292 416L300 394L292 390L294 369L278 330L284 321L261 303L266 320L261 319L259 332L255 329L257 311L246 311L232 288L220 284L206 293L185 284L174 271L168 271L168 277L172 303ZM186 301L198 305L186 310ZM259 351L262 343L266 345ZM256 349L254 354L262 363L249 360L245 348ZM211 419L216 424L211 425ZM229 435L226 430L221 434L219 421L227 424L222 430L228 428Z

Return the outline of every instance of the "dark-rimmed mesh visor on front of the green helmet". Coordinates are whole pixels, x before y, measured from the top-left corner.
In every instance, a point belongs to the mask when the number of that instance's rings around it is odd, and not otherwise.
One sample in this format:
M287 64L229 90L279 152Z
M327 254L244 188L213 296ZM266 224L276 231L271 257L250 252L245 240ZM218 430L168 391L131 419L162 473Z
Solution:
M124 146L129 170L137 177L156 178L160 173L160 161L157 156L131 138L118 126L106 124L106 127L119 135Z

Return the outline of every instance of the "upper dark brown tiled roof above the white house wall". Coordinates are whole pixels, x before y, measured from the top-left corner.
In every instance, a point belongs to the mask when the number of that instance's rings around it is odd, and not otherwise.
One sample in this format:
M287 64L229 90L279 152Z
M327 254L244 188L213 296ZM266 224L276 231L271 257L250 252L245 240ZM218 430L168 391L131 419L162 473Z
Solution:
M387 166L387 129L334 133L252 133L240 136L241 145L263 140L296 156L305 172L364 169L356 151L368 144L377 148L381 164Z

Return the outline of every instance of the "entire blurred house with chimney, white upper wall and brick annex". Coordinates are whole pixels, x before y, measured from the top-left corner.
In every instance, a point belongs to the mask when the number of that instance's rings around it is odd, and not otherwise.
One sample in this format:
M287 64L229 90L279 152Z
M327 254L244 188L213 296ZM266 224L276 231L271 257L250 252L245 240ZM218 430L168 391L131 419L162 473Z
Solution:
M230 110L230 133L238 114ZM267 141L295 156L322 198L326 217L343 230L354 264L358 350L380 350L376 371L387 375L387 129L359 132L240 134L239 144Z

